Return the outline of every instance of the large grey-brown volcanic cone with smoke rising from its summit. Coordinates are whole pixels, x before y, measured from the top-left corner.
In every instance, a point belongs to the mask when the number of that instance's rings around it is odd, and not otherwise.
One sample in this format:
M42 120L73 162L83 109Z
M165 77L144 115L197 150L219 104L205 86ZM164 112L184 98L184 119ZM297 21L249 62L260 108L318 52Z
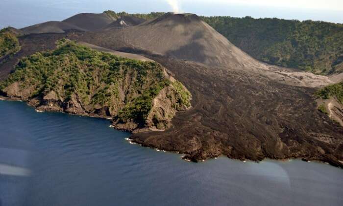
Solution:
M109 33L111 31L103 35ZM193 14L168 13L138 26L122 29L113 35L123 35L131 44L149 51L207 65L239 64L240 60L234 56L242 53ZM113 40L112 37L108 39ZM231 58L228 59L229 56Z

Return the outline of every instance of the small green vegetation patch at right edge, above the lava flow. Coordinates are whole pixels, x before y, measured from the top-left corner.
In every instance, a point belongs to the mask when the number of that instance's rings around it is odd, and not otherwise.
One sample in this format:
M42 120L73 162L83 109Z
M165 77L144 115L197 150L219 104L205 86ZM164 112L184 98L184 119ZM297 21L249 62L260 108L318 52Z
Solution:
M343 104L343 82L324 87L316 92L318 98L329 99L334 97Z

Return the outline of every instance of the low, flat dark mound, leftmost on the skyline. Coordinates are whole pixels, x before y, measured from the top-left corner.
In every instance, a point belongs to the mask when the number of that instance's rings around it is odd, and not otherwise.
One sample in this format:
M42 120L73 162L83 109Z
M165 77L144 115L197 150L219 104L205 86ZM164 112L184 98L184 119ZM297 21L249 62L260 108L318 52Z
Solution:
M85 31L85 29L80 28L76 25L64 22L45 22L45 23L38 23L32 26L27 26L22 28L21 31L24 34L42 34L42 33L64 33L66 30L78 30L78 31Z

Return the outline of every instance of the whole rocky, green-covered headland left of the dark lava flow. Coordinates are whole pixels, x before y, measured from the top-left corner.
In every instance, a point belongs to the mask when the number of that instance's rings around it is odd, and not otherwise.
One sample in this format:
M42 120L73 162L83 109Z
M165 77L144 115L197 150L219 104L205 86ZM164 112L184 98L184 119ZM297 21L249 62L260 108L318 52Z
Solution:
M113 117L119 129L166 129L190 106L190 93L155 62L141 62L60 40L22 59L0 93L39 110Z

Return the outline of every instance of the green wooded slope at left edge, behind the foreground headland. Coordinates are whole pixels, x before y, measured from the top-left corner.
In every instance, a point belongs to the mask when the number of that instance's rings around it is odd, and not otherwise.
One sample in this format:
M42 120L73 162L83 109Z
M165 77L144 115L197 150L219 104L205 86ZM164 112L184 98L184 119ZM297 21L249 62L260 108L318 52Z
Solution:
M12 55L20 50L19 41L11 28L0 30L0 59L6 55Z

